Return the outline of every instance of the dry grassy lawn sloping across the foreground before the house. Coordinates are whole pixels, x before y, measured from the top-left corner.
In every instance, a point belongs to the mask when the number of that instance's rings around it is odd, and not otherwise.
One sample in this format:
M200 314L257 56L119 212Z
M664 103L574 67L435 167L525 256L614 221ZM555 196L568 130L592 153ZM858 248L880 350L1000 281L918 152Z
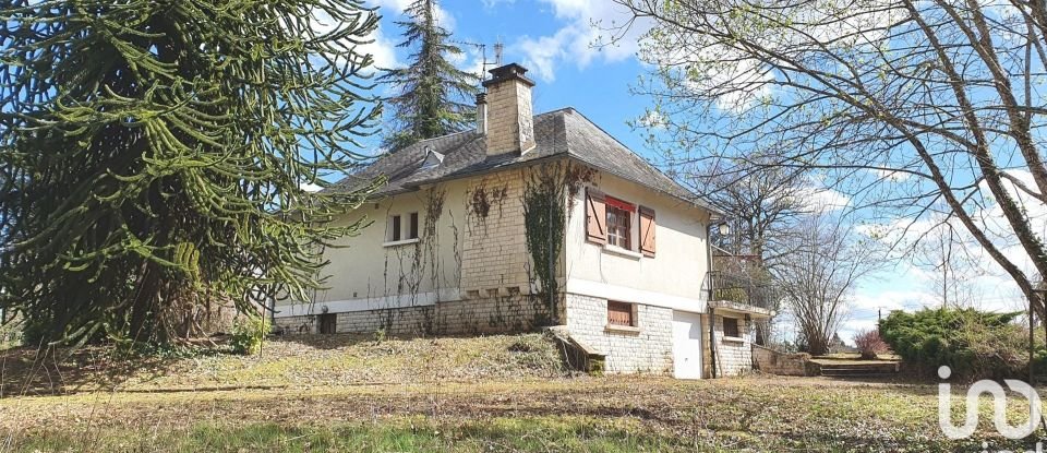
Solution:
M935 385L578 377L545 360L545 347L539 336L277 344L265 359L153 363L109 390L61 365L97 363L56 360L52 379L72 373L80 391L0 398L0 452L980 452L983 440L990 451L1032 443L990 434L987 398L976 439L944 439ZM426 366L410 371L405 361ZM25 378L17 368L9 375ZM112 373L95 374L111 383ZM241 386L198 390L230 377ZM261 383L270 385L244 386ZM1016 404L1011 414L1021 420Z

